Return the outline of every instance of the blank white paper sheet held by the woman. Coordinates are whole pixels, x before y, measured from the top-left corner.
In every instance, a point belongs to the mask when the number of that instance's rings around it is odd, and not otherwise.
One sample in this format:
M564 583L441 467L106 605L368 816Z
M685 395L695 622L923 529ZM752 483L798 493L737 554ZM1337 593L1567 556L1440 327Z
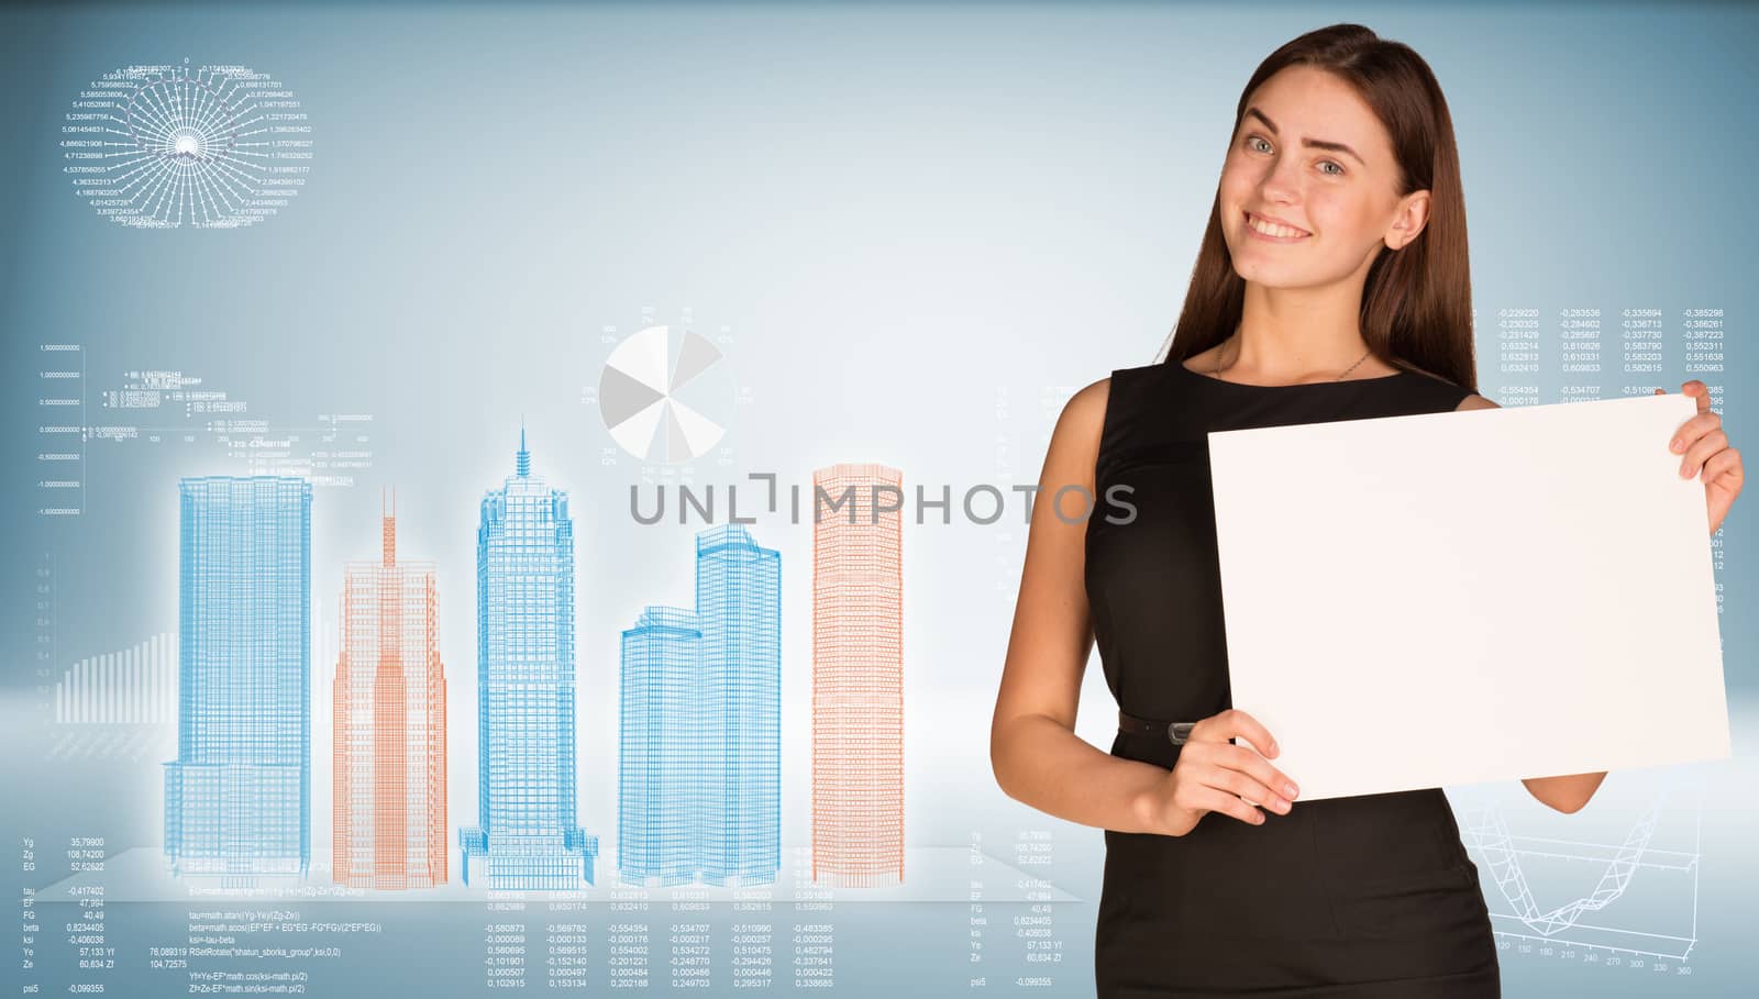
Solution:
M1729 756L1701 478L1641 396L1208 434L1233 707L1302 800Z

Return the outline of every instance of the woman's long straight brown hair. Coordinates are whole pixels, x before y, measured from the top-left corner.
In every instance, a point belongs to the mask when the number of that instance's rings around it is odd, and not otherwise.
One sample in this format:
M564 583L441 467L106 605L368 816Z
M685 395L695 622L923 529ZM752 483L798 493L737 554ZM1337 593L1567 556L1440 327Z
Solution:
M1247 98L1282 69L1317 67L1351 84L1386 127L1398 162L1398 197L1430 192L1428 223L1393 252L1381 246L1361 288L1361 338L1383 362L1439 375L1478 390L1472 357L1472 278L1465 255L1465 197L1448 100L1423 56L1361 25L1307 32L1259 63L1240 91L1233 135ZM1221 190L1191 269L1179 325L1163 346L1168 364L1208 350L1240 325L1245 280L1221 236Z

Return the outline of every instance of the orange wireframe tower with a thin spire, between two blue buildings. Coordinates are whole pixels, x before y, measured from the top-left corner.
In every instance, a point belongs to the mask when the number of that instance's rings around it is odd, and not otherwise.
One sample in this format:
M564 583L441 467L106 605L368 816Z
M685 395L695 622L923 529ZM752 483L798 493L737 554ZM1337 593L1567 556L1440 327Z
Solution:
M355 888L443 885L445 668L433 563L398 561L396 510L378 561L348 563L334 696L334 878Z

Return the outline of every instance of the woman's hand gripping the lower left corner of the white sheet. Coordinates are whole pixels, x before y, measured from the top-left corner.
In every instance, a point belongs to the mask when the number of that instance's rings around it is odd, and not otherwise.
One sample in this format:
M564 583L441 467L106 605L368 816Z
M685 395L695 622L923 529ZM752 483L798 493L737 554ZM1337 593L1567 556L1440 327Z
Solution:
M1251 746L1228 742L1237 735L1252 746L1263 746L1265 755ZM1300 788L1270 765L1266 756L1275 755L1277 740L1244 711L1230 707L1198 721L1179 749L1173 769L1150 795L1150 823L1166 835L1184 835L1208 813L1230 814L1251 825L1265 823L1259 806L1288 814Z

